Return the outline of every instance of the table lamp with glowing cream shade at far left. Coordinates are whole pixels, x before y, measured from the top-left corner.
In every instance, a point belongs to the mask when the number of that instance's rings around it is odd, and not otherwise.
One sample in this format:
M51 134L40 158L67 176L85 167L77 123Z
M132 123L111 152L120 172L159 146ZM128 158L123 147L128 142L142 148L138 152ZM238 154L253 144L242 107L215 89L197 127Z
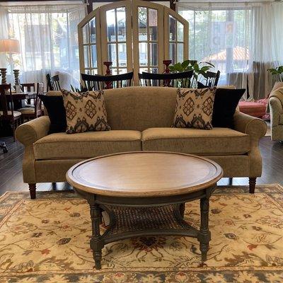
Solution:
M18 40L0 40L0 52L8 53L9 59L8 62L13 70L13 57L12 54L20 53L20 42ZM6 81L6 68L1 68L2 84L7 83Z

